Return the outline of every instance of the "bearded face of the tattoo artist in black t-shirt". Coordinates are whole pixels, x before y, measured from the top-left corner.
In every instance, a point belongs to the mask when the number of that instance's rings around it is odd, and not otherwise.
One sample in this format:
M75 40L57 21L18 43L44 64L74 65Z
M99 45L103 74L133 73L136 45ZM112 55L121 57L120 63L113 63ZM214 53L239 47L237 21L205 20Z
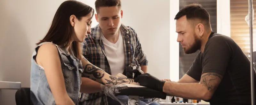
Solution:
M187 20L186 16L176 20L176 32L178 33L177 42L180 42L186 54L195 53L201 48L201 40L197 38L194 28Z

